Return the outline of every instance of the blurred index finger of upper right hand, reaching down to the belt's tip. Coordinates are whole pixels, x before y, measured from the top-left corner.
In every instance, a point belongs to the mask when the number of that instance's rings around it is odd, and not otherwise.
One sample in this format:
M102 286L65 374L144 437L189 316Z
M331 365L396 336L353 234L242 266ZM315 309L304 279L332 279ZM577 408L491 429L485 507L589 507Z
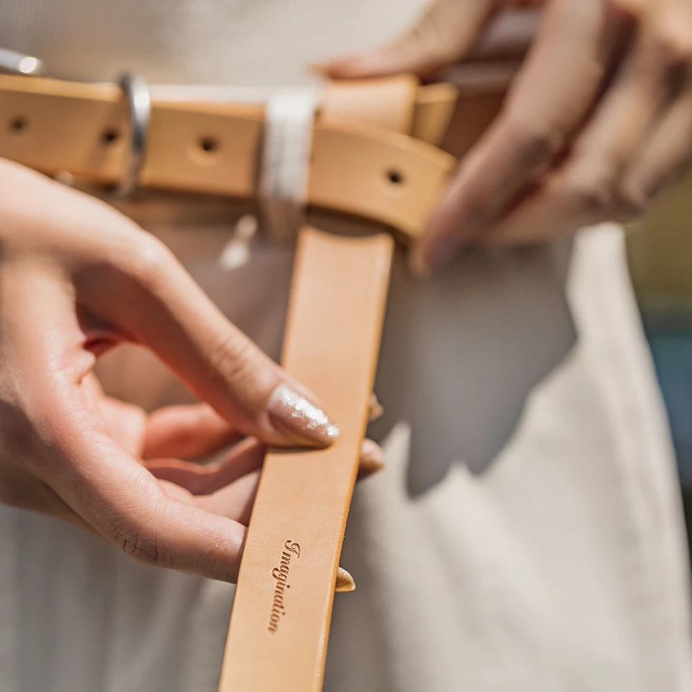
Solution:
M627 24L601 0L554 0L504 109L466 156L413 264L439 268L490 228L565 146L592 106Z

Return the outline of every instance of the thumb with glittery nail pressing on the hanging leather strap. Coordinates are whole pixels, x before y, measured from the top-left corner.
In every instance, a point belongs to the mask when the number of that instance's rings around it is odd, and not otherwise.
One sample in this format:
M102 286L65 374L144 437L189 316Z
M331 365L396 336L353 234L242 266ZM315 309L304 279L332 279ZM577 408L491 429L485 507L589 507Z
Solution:
M117 338L149 347L244 434L280 446L336 439L338 426L314 394L221 313L170 249L143 230L119 230L106 260L78 277L85 312L115 325Z

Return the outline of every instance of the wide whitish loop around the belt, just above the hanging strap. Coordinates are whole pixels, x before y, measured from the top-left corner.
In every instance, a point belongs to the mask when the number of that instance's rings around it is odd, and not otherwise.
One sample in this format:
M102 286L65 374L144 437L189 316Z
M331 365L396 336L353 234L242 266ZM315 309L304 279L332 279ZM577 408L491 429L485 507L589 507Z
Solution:
M316 89L277 91L266 102L259 199L262 220L277 242L291 243L304 223Z

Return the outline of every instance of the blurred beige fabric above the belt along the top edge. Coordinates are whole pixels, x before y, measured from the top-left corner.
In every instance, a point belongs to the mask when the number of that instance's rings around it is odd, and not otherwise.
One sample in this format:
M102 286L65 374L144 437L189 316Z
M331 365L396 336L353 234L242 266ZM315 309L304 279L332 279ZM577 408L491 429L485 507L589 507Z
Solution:
M0 45L61 78L280 86L406 26L424 0L3 0Z

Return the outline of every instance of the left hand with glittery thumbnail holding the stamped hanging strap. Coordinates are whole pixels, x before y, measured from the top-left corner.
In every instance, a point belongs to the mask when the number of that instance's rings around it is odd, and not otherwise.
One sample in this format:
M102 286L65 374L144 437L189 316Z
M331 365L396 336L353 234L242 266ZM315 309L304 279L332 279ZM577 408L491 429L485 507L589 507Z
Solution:
M143 410L91 370L149 347L206 403ZM338 428L224 318L154 237L0 161L0 501L68 520L145 563L233 580L265 444ZM190 461L244 436L220 462ZM380 465L364 447L365 470ZM187 460L185 460L187 459Z

